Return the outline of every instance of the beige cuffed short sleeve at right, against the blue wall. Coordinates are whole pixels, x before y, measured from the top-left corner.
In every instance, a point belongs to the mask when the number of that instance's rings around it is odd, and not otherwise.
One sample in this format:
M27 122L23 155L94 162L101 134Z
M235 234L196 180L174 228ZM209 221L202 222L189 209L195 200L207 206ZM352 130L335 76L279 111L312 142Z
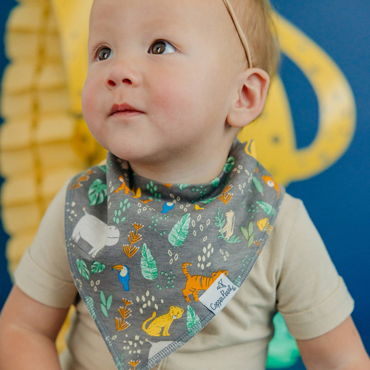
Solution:
M353 299L302 201L285 246L276 297L296 339L325 334L353 311Z

